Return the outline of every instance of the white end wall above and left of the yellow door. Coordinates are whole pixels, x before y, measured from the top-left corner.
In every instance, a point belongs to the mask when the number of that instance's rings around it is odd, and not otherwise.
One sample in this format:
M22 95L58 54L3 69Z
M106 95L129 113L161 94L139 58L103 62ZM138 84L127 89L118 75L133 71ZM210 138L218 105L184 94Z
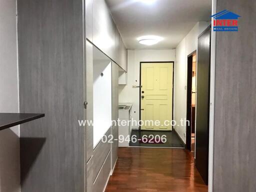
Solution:
M139 88L132 88L132 85L139 85L139 63L141 61L174 60L175 49L128 50L127 85L119 85L119 102L132 102L131 115L134 120L139 120Z

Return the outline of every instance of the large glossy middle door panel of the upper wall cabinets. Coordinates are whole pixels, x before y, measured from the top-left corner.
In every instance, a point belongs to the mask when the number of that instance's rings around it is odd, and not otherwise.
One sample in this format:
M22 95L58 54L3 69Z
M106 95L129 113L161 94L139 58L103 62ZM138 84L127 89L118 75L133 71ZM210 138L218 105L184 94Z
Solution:
M92 1L92 42L115 60L115 24L105 0Z

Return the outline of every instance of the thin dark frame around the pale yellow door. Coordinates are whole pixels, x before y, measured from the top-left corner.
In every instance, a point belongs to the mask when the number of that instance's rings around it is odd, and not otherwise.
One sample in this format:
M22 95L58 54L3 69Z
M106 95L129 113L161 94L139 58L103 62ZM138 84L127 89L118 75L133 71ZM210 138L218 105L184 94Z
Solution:
M142 63L172 63L173 66L173 70L172 70L172 114L171 114L171 118L173 120L173 90L174 90L174 61L140 61L139 62L139 120L141 120L141 112L140 112L140 108L141 108L141 64ZM140 126L139 126L139 130L140 130ZM172 126L172 130L173 130L173 126Z

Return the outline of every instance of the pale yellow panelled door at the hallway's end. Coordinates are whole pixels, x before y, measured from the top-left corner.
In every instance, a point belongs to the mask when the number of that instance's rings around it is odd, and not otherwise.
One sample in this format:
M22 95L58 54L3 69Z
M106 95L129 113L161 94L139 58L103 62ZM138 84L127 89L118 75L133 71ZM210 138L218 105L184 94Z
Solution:
M141 62L140 119L142 130L171 130L173 62ZM159 124L152 123L159 120Z

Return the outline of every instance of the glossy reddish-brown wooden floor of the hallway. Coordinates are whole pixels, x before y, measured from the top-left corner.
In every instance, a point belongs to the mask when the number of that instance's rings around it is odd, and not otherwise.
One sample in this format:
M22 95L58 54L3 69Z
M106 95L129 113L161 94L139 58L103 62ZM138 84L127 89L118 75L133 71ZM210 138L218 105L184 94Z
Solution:
M206 192L207 186L185 149L123 147L105 191Z

